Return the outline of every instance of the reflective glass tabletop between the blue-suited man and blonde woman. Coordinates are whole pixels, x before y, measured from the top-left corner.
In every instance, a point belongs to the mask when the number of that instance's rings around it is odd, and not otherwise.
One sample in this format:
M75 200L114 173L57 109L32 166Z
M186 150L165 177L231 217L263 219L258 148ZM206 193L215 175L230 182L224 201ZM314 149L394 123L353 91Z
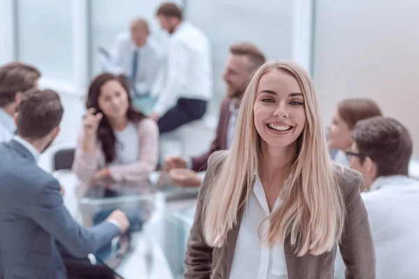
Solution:
M160 172L154 172L149 181L135 183L85 185L73 173L57 179L67 188L66 206L83 225L101 223L114 209L125 211L130 220L130 232L98 251L99 261L123 278L182 278L199 188L173 186Z

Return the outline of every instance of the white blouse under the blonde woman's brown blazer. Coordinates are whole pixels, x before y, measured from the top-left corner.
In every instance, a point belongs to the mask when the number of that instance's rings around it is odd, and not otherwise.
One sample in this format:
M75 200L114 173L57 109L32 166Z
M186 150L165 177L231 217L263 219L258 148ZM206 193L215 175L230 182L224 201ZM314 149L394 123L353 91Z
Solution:
M277 199L273 210L282 203ZM258 229L263 220L270 215L265 190L259 177L253 192L249 195L235 247L230 279L287 279L284 242L275 243L270 249L268 243L261 243ZM269 229L267 220L261 227L264 235Z

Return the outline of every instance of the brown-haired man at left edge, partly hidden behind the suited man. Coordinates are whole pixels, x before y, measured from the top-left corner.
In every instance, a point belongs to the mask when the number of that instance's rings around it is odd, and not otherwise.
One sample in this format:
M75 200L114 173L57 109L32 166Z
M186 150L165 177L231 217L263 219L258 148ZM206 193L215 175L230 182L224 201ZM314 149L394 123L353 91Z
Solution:
M38 87L41 72L34 66L20 62L0 68L0 142L8 142L16 132L13 114L24 92Z

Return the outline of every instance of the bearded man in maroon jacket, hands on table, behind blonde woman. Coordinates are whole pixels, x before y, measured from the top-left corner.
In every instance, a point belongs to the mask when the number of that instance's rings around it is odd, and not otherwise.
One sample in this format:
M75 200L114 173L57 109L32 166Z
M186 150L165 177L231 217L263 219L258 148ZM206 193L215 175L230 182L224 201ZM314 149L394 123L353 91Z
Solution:
M230 148L239 113L240 98L251 77L263 63L265 63L265 56L256 45L237 43L230 47L230 55L223 74L223 80L227 85L227 98L221 103L216 137L210 150L200 156L192 158L168 156L165 159L165 167L173 183L179 186L200 186L202 176L198 172L207 168L207 160L211 154Z

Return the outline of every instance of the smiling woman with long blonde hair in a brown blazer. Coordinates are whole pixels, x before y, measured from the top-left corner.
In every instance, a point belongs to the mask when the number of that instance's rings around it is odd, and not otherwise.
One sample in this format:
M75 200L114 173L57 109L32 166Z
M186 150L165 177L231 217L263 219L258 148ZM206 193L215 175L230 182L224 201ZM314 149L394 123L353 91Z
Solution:
M265 63L244 93L230 151L214 153L198 197L184 278L375 278L362 178L333 165L313 81Z

